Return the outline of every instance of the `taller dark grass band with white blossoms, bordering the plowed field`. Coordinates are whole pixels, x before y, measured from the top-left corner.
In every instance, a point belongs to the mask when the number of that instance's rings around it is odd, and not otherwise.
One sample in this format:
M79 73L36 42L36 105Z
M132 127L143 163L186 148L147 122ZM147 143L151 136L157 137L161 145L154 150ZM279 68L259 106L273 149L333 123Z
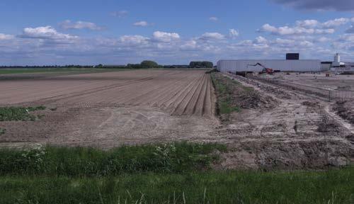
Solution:
M189 172L210 169L224 145L176 142L103 151L87 147L0 149L0 175L115 176L135 172Z

